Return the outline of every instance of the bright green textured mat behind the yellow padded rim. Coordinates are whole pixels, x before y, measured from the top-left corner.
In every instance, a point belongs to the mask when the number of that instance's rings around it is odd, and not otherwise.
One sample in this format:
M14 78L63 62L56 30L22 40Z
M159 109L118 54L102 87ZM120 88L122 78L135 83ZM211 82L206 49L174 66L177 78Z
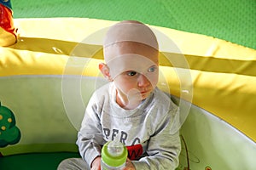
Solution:
M12 0L15 18L140 20L256 49L255 0Z

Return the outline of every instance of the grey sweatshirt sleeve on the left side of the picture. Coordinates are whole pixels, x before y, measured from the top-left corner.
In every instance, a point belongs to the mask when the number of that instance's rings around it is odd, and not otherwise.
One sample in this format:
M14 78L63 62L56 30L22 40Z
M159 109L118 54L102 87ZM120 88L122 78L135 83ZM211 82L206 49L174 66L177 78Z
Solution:
M97 156L101 156L103 143L102 127L94 101L92 97L87 105L76 143L79 146L80 155L89 166Z

